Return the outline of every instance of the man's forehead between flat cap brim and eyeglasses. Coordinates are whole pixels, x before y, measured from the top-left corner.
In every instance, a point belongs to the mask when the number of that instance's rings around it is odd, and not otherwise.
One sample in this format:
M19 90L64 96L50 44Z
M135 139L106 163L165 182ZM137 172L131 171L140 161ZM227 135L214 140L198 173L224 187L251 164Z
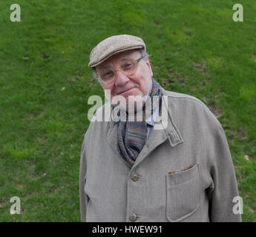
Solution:
M105 67L113 67L115 64L119 64L127 59L136 60L137 56L140 56L140 52L138 50L127 50L125 52L116 53L114 56L111 56L109 59L96 66L96 70L100 70Z

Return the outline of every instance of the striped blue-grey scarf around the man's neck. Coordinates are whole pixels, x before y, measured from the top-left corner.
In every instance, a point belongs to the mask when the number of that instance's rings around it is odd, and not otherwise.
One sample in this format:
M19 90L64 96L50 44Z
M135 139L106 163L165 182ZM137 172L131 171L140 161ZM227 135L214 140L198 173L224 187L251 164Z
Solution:
M161 105L162 93L160 84L152 78L151 94L151 115L153 114L153 96L159 96L159 105ZM160 110L160 106L158 107ZM145 121L145 108L142 111L142 121L119 121L117 132L118 150L122 158L132 167L140 151L144 147L147 136L147 123Z

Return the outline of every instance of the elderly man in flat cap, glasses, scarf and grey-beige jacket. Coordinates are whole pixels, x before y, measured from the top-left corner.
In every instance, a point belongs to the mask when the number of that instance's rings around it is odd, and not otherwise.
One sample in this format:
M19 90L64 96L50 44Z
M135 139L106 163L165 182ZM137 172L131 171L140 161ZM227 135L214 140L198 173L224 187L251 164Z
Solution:
M108 99L94 116L111 119L94 118L85 133L79 175L82 221L241 221L220 123L199 99L164 90L153 79L144 41L111 36L92 50L89 67ZM127 106L119 121L112 113L120 105L114 103L116 96L125 103L115 115ZM134 98L145 96L137 107ZM140 119L129 120L131 108Z

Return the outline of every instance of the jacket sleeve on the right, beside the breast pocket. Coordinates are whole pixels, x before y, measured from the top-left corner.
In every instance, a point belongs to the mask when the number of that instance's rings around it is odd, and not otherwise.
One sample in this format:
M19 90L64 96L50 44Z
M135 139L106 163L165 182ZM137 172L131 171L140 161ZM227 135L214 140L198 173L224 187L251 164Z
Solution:
M229 145L220 126L211 144L211 167L209 173L209 217L216 222L240 222L240 213L233 212L239 196Z

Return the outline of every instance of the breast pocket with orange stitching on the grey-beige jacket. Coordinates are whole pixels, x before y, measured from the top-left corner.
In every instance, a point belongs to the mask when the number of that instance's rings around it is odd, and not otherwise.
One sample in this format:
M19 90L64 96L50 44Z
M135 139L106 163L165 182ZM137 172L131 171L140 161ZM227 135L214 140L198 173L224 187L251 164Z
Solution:
M197 211L200 205L199 165L166 175L166 218L181 221Z

